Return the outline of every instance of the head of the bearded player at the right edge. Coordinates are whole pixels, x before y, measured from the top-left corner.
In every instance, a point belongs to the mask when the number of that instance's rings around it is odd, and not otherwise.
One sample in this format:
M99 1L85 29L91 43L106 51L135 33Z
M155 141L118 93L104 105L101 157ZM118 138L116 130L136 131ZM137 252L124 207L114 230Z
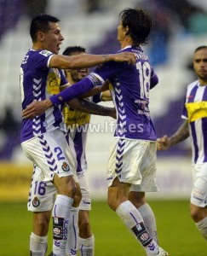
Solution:
M193 57L193 67L198 79L207 82L207 49L199 49Z

